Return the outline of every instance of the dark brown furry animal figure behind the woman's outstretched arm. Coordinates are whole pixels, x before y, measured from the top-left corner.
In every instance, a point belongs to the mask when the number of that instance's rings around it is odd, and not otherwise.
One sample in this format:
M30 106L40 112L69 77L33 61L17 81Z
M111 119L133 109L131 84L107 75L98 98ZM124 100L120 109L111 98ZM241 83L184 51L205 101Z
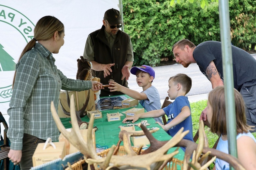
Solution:
M76 79L80 80L92 80L91 75L91 63L89 60L85 59L83 56L80 56L77 60L77 73Z

